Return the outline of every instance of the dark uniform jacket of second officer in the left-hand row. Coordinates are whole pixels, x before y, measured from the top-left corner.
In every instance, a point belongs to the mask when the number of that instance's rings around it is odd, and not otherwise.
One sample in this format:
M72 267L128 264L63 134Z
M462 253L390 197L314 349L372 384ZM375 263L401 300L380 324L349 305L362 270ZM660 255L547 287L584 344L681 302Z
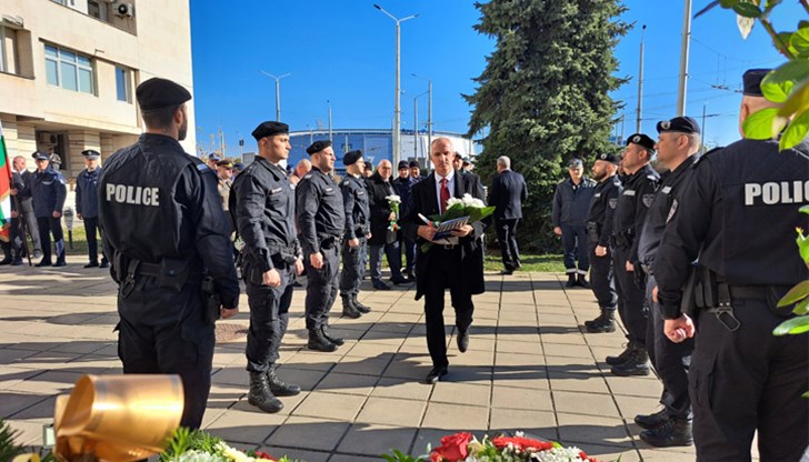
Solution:
M244 259L262 273L274 268L281 249L300 255L294 230L294 190L287 172L258 157L230 187L229 209L239 230Z

